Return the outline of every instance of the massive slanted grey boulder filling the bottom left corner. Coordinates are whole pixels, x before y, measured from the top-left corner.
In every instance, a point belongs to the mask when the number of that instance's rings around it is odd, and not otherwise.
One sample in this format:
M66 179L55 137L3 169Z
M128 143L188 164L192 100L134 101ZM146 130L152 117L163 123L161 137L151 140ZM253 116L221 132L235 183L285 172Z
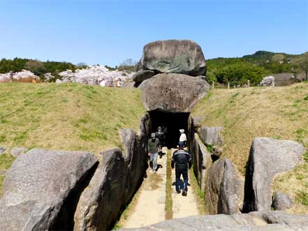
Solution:
M97 158L84 151L32 149L3 182L0 230L71 230L78 193Z

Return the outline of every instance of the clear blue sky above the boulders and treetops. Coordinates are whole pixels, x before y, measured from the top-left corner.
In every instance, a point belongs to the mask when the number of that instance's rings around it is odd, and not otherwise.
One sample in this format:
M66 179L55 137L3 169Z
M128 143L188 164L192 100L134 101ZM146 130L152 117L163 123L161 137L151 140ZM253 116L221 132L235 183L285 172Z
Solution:
M146 43L195 40L206 59L308 50L307 0L0 0L0 58L115 66Z

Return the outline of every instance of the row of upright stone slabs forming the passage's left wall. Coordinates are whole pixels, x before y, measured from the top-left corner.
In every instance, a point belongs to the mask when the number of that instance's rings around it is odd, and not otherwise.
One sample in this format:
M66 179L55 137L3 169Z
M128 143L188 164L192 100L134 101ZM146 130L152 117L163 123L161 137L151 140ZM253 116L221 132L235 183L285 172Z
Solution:
M101 153L103 161L78 202L74 230L108 230L117 221L145 174L149 126L146 114L138 134L133 129L120 131L123 151L111 149Z

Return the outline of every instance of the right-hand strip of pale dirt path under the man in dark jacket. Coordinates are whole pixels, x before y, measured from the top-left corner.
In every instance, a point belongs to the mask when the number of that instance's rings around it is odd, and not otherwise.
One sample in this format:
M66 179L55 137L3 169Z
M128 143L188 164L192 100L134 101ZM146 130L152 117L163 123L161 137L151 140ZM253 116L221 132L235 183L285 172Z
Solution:
M172 154L175 149L172 150ZM198 202L191 186L188 186L187 196L177 194L175 191L175 170L172 171L173 179L173 218L199 215ZM182 178L181 178L182 179ZM190 180L190 176L189 176Z

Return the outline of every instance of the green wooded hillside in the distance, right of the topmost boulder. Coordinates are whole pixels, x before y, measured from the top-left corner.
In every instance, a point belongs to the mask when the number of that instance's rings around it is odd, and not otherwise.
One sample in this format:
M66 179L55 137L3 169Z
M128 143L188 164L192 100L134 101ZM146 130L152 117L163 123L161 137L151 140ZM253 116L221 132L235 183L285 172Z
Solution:
M258 51L237 58L216 58L207 60L207 80L220 84L244 84L251 80L255 85L266 75L295 73L308 75L308 52L286 54Z

